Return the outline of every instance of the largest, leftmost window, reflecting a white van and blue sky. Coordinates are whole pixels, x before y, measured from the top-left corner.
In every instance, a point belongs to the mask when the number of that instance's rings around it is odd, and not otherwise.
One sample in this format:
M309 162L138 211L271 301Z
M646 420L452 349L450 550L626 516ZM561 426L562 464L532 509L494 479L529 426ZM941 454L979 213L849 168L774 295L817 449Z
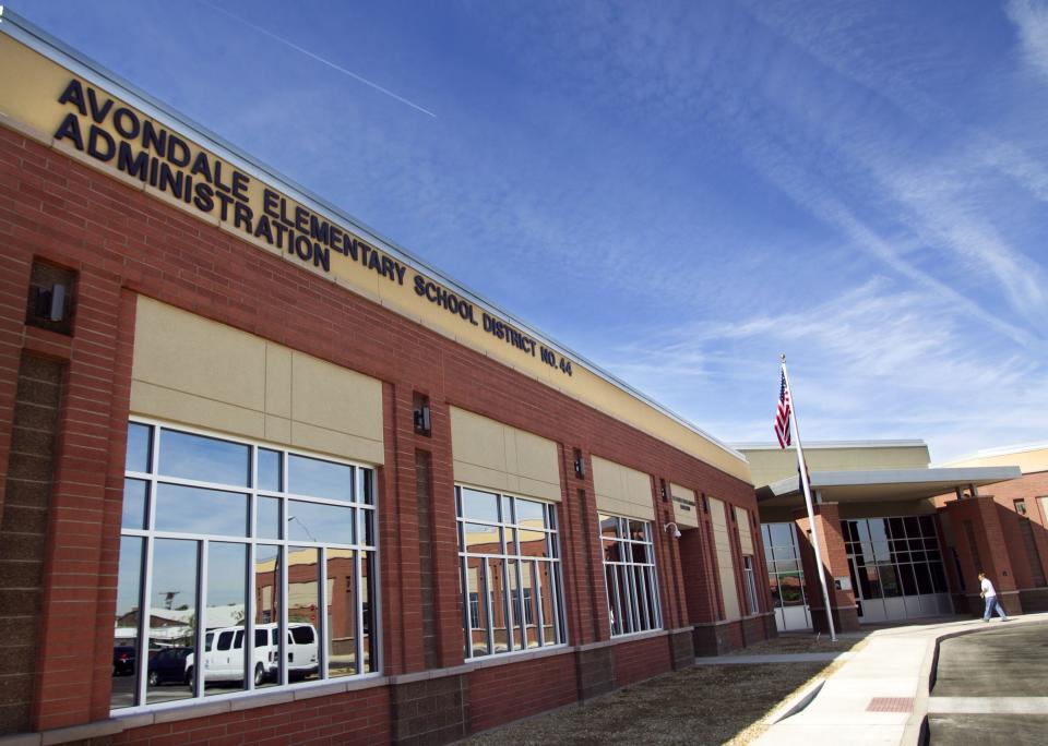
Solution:
M124 476L114 709L378 670L371 469L135 421Z

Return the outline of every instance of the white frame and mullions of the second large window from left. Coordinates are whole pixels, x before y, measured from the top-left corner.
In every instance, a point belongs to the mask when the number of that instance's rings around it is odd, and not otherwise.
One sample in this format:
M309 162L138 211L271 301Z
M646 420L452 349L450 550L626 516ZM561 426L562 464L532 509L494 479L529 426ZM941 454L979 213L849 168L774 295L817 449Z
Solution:
M493 495L498 506L497 520L466 517L463 513L463 490ZM457 544L458 554L458 597L462 607L463 657L465 662L469 663L472 661L484 661L505 655L520 655L565 647L568 645L568 617L564 602L564 577L563 564L561 563L560 525L557 516L557 503L529 495L503 492L492 488L478 486L458 481L455 482L454 498L455 543ZM519 521L516 516L516 501L526 501L543 507L543 528L526 526ZM505 506L508 504L512 504L513 506L514 513L511 516L512 520L508 520L505 516ZM468 551L464 536L466 525L495 528L502 551ZM511 531L535 531L544 533L546 537L547 556L533 557L521 554L520 534L512 534ZM508 544L511 541L510 536L516 536L516 539L513 540L516 552L513 554L507 551ZM478 585L475 589L469 586L471 558L480 560L483 563L478 568L480 571L478 574ZM495 598L496 589L492 587L492 568L489 560L501 561L503 565L501 599ZM513 563L512 566L511 563ZM531 564L531 586L528 588L524 588L523 585L524 563ZM543 599L546 597L547 589L545 580L541 578L541 573L537 571L543 564L548 565L550 577L555 580L555 587L550 589L549 593L551 619L546 618L546 612L543 607ZM510 575L511 571L513 571L513 576ZM522 589L525 592L522 592ZM526 600L532 602L536 602L537 600L537 602L534 603L535 611L533 611L532 614L528 614L528 607L524 605ZM496 650L496 614L493 613L496 604L501 607L502 618L507 622L507 650ZM476 615L474 615L474 611L477 612ZM534 617L535 613L538 615L537 618ZM474 619L477 617L485 621L483 626L473 625ZM528 623L528 618L532 618L533 622ZM523 624L521 624L522 622ZM546 641L547 626L552 628L552 642ZM538 641L538 645L535 647L528 646L528 629L532 628L535 629L535 639ZM477 630L484 630L486 633L487 652L477 653L474 650L473 633ZM517 634L521 635L520 640L517 640Z

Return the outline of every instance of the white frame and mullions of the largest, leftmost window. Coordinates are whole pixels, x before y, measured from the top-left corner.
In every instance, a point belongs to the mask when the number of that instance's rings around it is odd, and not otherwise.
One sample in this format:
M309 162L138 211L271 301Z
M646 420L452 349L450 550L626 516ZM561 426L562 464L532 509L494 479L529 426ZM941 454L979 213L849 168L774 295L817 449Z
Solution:
M204 706L206 703L226 699L236 699L242 697L252 697L252 696L265 696L275 693L285 693L285 691L297 691L302 688L313 688L313 687L324 687L324 686L338 686L344 685L346 681L360 681L365 678L379 678L381 677L383 670L383 659L382 659L382 619L381 616L381 543L380 543L380 531L379 531L379 494L378 494L378 469L380 465L367 464L365 461L346 459L343 457L332 456L329 454L319 454L302 448L297 448L294 446L287 446L283 444L275 444L267 441L262 441L258 438L252 438L238 434L221 433L217 431L212 431L205 428L199 428L194 425L188 425L178 422L170 422L163 419L156 419L151 417L142 417L132 414L129 416L126 424L130 430L131 425L144 425L150 429L150 442L147 444L147 462L146 471L138 471L127 468L124 464L123 468L123 482L124 485L128 481L136 481L145 483L145 501L143 506L143 521L142 525L144 528L127 528L123 526L123 518L121 517L121 524L119 527L119 538L122 540L124 538L134 538L141 540L141 550L138 557L138 571L139 571L139 588L136 595L136 609L138 609L138 624L135 627L135 641L133 647L135 648L135 671L133 673L134 689L132 695L132 705L127 707L114 707L110 695L110 705L109 712L110 717L124 717L131 715L141 712L152 712L158 709L167 709L172 707L194 707L194 706ZM246 446L248 448L248 471L246 474L246 485L231 485L223 482L210 482L205 480L195 480L188 479L184 477L171 477L163 474L159 470L159 458L160 458L160 433L163 431L184 433L188 435L199 436L203 438L211 438L215 441L233 443L240 446ZM279 455L279 484L277 490L273 489L263 489L259 486L259 465L262 450L276 452ZM345 466L352 468L352 495L353 500L336 500L330 497L317 497L313 495L307 495L301 493L293 493L288 490L289 478L288 478L288 465L290 462L291 456L299 456L302 458L309 458L313 460L326 461L330 464L335 464L338 466ZM171 484L176 486L187 486L202 490L213 490L218 492L227 493L239 493L243 494L247 500L246 506L246 520L247 526L242 536L235 534L221 534L221 533L194 533L188 531L169 531L162 530L156 528L156 514L157 514L157 501L158 501L158 485L160 484ZM260 536L258 520L259 520L259 504L261 498L277 498L278 509L277 509L277 534L281 538L273 538L266 536ZM353 541L350 542L335 542L335 541L324 541L315 539L301 539L301 538L291 538L290 520L293 518L288 517L289 510L288 506L293 502L302 502L310 504L319 505L332 505L338 507L353 508L355 510L353 516ZM367 520L366 513L370 512L371 521L370 521L370 533L367 531ZM308 531L307 531L308 533ZM365 543L367 539L371 540L371 543ZM239 634L242 635L242 639L254 639L255 637L255 627L257 625L272 624L276 623L276 629L285 629L290 631L290 624L288 619L288 564L289 555L291 554L293 549L295 548L306 548L306 549L315 549L317 550L317 614L315 621L312 622L314 633L314 640L317 643L317 679L315 681L300 681L291 685L290 682L290 672L288 671L288 661L287 661L287 635L277 637L277 654L279 660L277 661L276 670L276 679L273 684L264 687L255 687L253 676L248 672L253 671L253 665L258 662L255 660L255 646L246 646L243 648L243 666L245 666L245 679L243 688L236 691L229 693L219 693L212 694L205 691L205 678L201 676L195 676L195 682L193 684L193 689L189 697L172 699L168 701L154 701L150 702L147 693L147 667L148 667L148 655L150 655L150 630L151 630L151 616L154 609L157 609L162 605L162 602L153 601L153 571L154 568L154 546L158 540L180 540L187 542L195 543L195 556L196 556L196 582L194 590L194 601L193 601L193 617L194 630L192 633L192 648L193 651L198 654L194 657L194 666L200 665L200 661L203 660L199 654L200 651L207 653L209 650L205 647L205 640L212 638L213 634L217 631L218 628L209 630L205 628L204 624L199 624L199 621L202 618L206 619L207 613L207 585L209 585L209 555L210 548L212 544L238 544L245 546L245 553L247 562L243 568L243 581L245 581L245 609L243 609L243 621L242 627L240 628ZM255 598L254 589L254 575L255 575L255 565L257 565L257 548L259 545L273 546L277 550L277 565L279 567L279 582L281 582L281 601L279 601L279 613L277 618L271 619L267 623L255 622L254 617L257 615L257 605L258 601ZM354 568L353 568L353 581L355 583L355 598L354 598L354 629L356 629L356 661L357 667L362 667L364 655L367 652L368 646L364 642L365 634L371 636L370 648L371 648L371 660L370 667L371 671L358 672L348 675L341 675L336 677L331 677L330 664L330 653L327 650L329 646L329 619L326 610L332 602L332 598L329 598L327 585L327 562L329 562L329 550L335 551L352 551L354 552ZM368 567L367 574L364 569L368 566L370 555L370 565ZM370 578L368 577L370 575ZM365 603L360 600L360 590L367 583L369 598L368 602ZM370 629L368 633L365 633L367 625L365 625L365 607L370 606L373 610L373 622L374 628ZM116 610L119 612L119 609ZM271 638L272 639L272 638ZM271 641L272 643L272 641ZM217 646L217 638L215 639L214 645Z

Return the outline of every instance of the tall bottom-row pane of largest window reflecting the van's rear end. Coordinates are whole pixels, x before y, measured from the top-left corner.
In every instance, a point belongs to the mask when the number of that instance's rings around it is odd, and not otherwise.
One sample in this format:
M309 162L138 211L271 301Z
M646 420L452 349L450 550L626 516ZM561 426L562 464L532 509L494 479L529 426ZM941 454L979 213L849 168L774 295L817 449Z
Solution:
M320 609L320 550L289 546L287 557L288 681L312 681L318 677L320 660L315 635Z

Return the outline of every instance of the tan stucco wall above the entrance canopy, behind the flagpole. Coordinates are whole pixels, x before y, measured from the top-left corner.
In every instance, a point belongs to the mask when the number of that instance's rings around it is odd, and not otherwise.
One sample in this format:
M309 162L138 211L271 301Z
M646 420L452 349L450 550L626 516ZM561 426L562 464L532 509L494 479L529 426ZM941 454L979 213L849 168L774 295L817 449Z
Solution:
M750 462L753 484L764 486L797 476L797 452L764 448L740 448ZM928 466L928 446L889 447L805 447L805 459L811 471L866 471L874 469L922 469Z

